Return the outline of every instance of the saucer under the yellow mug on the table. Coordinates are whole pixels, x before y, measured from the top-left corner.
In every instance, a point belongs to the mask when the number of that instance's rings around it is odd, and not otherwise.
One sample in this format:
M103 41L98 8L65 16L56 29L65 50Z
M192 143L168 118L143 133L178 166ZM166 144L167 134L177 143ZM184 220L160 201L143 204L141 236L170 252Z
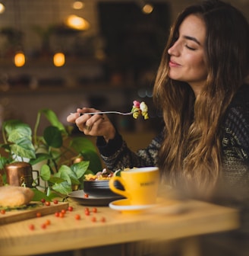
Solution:
M162 198L157 198L156 203L147 205L131 205L130 200L121 199L109 203L112 210L118 210L121 213L141 213L144 210L149 210L153 207L159 206L163 202Z

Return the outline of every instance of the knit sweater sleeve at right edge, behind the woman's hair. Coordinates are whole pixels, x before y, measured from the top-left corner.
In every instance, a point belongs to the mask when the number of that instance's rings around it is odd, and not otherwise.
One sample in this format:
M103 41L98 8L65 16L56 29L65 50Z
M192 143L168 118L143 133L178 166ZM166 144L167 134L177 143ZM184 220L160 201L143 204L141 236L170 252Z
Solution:
M222 138L225 182L237 190L249 184L249 87L242 87L230 105ZM235 190L234 190L235 191Z

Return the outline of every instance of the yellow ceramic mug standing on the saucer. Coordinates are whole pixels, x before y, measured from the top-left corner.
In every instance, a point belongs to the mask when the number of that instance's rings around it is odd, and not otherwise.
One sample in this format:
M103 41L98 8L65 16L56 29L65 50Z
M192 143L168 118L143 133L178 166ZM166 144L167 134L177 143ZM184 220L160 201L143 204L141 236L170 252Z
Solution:
M124 190L115 187L115 181L120 182ZM109 187L116 194L127 197L131 205L156 203L159 188L159 168L144 167L121 171L121 177L114 176L110 179Z

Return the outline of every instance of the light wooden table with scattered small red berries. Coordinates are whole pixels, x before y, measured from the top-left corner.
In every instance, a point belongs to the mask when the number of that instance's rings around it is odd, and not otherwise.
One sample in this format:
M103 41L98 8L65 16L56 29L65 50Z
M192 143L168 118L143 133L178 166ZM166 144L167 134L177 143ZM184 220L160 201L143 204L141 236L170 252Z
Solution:
M0 226L0 254L34 255L147 239L190 238L236 229L239 225L236 210L195 200L177 202L175 210L180 211L176 213L165 213L159 208L142 214L123 214L108 206L96 206L97 213L93 213L93 206L70 205L74 210L65 213L64 218L52 214ZM86 207L90 216L85 215ZM75 219L76 214L80 219ZM101 221L102 217L106 222ZM46 219L51 224L42 229ZM34 230L29 229L30 224L34 224Z

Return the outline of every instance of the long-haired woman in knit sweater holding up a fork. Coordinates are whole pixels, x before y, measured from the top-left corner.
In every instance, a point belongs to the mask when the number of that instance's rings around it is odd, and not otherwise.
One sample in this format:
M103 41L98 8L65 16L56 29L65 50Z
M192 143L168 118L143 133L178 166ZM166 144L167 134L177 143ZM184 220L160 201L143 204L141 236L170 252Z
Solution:
M165 128L131 152L109 118L93 108L68 116L111 170L158 165L162 178L197 197L249 187L249 25L237 9L202 1L178 15L162 54L153 98ZM87 129L89 128L90 129ZM240 195L241 196L241 195Z

